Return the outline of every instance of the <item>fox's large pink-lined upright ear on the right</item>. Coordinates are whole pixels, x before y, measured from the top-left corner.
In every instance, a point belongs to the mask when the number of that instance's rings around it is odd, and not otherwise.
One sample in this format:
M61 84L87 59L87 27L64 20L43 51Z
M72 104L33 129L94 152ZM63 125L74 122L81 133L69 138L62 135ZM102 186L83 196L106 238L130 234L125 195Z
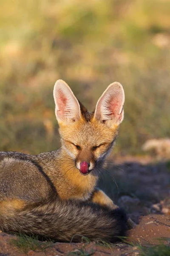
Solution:
M119 125L124 118L125 93L122 84L114 82L108 86L96 104L94 118L109 127Z

